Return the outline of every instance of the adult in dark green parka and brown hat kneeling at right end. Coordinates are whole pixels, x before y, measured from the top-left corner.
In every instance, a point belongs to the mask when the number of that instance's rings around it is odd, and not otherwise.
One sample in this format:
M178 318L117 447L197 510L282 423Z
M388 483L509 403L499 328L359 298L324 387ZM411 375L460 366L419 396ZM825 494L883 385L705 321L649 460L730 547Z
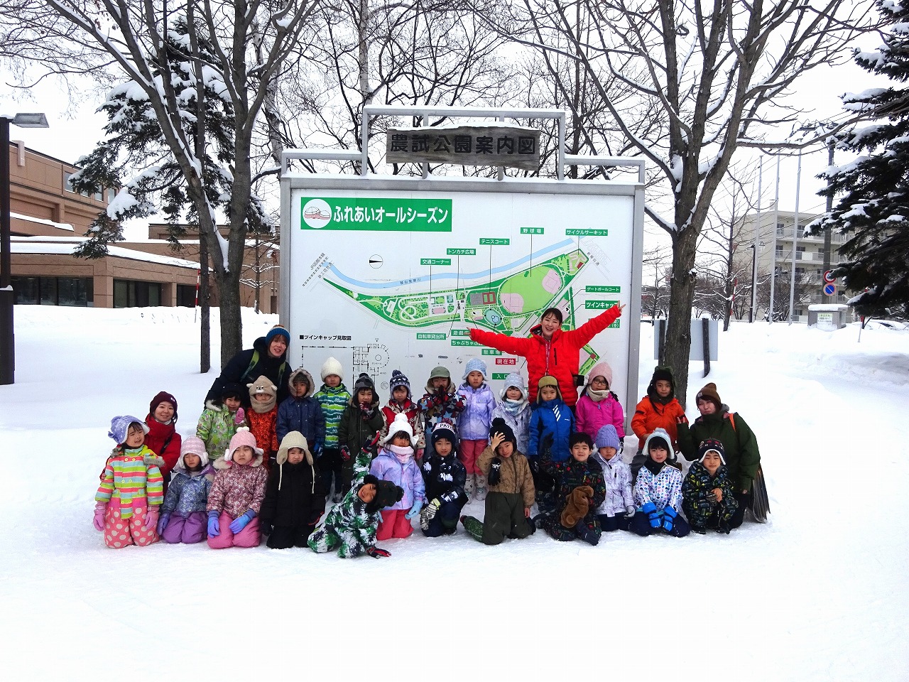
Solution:
M685 459L694 461L698 458L698 447L708 438L723 443L726 467L739 503L734 516L729 519L729 527L737 528L744 521L744 510L752 506L754 478L761 476L761 451L757 447L757 438L744 419L730 412L729 407L723 404L715 384L707 384L698 391L695 401L701 416L690 425L684 416L679 417L679 449ZM763 484L761 492L762 497L765 496ZM765 512L753 511L754 516L763 522Z

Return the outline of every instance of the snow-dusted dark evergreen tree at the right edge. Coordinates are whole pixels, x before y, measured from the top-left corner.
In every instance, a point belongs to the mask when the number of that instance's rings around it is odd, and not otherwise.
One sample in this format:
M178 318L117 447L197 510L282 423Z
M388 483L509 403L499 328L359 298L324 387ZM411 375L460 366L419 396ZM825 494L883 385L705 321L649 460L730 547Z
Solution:
M905 0L904 0L905 2ZM909 79L909 6L878 0L893 24L884 45L857 52L855 61L896 83ZM847 234L836 268L845 285L862 292L850 303L866 316L909 316L909 88L874 88L844 97L846 109L864 112L874 123L841 135L839 148L860 156L828 169L830 185L820 194L839 196L834 210L813 231Z

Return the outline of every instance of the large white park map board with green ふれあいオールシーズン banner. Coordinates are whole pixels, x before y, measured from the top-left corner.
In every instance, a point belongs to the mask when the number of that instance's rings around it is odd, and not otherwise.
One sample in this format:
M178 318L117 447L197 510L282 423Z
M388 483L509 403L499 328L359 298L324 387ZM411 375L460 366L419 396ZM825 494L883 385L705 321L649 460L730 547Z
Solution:
M366 372L383 402L394 369L419 395L437 365L460 385L472 357L488 366L496 394L510 372L526 380L524 358L478 346L470 328L528 336L550 306L576 327L640 286L634 193L572 194L551 183L551 193L527 193L518 191L526 182L487 192L445 180L424 183L442 191L407 189L414 179L293 180L282 235L291 364L315 374L335 356L348 387ZM621 317L581 353L582 373L608 360L620 396L636 322Z

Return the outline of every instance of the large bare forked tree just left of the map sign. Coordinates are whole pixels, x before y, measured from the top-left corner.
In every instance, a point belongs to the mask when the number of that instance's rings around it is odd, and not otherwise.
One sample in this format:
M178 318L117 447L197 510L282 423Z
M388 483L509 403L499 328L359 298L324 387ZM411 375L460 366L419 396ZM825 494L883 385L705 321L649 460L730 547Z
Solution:
M194 206L201 238L212 257L213 278L221 306L221 358L227 362L241 349L240 277L250 217L258 210L253 186L251 147L268 85L285 68L285 58L302 35L315 1L188 0L170 6L162 0L126 3L124 0L5 0L15 5L15 19L32 26L44 40L42 60L60 72L56 50L108 62L132 81L133 96L145 98L160 126L165 145L185 178L186 194ZM43 23L51 17L48 23ZM181 17L189 26L180 43L185 68L171 69L166 39L168 24ZM61 21L62 20L62 21ZM43 32L43 33L42 33ZM199 45L210 46L210 53ZM258 56L256 56L258 55ZM113 70L113 69L112 69ZM201 98L215 87L234 114L235 155L225 162L223 181L228 191L215 191L203 172L206 152L205 121L176 94L175 82L191 80ZM186 117L197 120L195 129ZM146 168L146 172L154 172ZM216 222L219 199L228 236Z

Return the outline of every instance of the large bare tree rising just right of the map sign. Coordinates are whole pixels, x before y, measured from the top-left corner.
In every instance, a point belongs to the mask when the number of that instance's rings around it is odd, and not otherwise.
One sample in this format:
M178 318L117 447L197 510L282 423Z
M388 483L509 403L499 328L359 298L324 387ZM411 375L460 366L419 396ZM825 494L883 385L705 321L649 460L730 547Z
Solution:
M577 4L594 17L584 40L575 30ZM816 65L843 61L849 42L877 21L868 11L871 5L846 0L523 0L499 10L483 5L484 16L515 40L577 60L623 135L662 176L672 197L671 214L654 203L645 210L673 240L666 360L674 366L683 399L697 242L716 189L738 145L767 125L793 119L793 111L775 105L795 79ZM547 35L561 36L574 49L560 48ZM607 87L611 79L638 97L616 100ZM662 125L642 132L644 112L654 108Z

